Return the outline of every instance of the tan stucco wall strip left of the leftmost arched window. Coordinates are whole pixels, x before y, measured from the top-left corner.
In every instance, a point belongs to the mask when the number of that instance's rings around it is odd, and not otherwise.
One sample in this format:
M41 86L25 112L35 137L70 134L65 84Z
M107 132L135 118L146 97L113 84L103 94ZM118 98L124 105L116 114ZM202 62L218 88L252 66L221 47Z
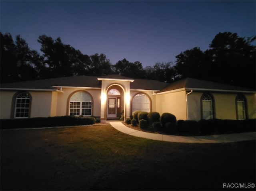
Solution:
M14 91L0 91L0 118L10 119Z

